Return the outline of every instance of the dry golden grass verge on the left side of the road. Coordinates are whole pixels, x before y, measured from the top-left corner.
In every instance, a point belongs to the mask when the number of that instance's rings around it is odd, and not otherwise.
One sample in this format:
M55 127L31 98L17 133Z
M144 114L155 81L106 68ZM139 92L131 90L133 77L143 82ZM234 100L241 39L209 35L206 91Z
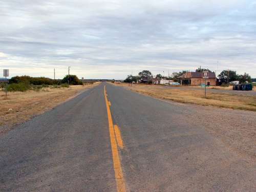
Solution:
M81 91L87 90L99 84L87 84L86 86L72 86L70 88L44 88L40 91L0 92L0 134L7 132L15 124L25 122L33 116L44 113L61 102L73 98Z

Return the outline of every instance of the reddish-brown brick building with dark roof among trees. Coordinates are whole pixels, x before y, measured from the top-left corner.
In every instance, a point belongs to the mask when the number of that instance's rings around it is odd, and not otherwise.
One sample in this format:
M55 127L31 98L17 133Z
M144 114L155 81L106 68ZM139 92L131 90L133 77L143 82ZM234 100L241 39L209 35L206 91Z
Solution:
M191 86L200 86L205 83L202 72L187 72L178 77L179 83L188 84ZM208 86L216 86L216 75L214 72L209 72L209 78L206 79Z

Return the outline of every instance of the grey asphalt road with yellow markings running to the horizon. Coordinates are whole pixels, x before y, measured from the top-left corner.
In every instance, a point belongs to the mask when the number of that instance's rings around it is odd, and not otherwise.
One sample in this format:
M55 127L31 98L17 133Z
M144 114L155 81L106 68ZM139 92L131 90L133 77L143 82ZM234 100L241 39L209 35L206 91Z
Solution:
M101 83L0 137L0 191L255 191L256 167L185 110Z

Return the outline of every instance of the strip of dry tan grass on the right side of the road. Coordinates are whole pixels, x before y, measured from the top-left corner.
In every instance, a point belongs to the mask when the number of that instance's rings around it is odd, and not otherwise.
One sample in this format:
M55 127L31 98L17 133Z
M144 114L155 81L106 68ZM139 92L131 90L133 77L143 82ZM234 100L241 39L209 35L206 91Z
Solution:
M182 103L218 106L221 108L256 111L256 95L207 92L207 98L205 99L203 90L168 89L164 86L152 86L148 84L133 84L132 87L127 83L115 83L115 85L126 87L129 90L160 99L168 99Z

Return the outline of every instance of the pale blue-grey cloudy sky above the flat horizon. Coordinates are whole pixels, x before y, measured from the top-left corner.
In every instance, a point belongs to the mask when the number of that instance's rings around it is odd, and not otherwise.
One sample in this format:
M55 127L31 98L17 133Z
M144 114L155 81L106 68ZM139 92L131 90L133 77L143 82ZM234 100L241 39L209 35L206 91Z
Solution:
M1 0L0 70L123 79L218 72L219 61L219 72L256 77L255 10L255 0Z

